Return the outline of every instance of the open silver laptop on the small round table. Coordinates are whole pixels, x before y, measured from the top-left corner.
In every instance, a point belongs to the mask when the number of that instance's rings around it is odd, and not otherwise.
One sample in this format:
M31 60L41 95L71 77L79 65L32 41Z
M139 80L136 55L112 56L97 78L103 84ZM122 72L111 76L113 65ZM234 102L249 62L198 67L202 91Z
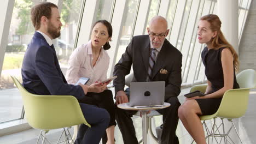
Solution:
M130 84L130 106L162 106L164 99L165 81L131 82Z

